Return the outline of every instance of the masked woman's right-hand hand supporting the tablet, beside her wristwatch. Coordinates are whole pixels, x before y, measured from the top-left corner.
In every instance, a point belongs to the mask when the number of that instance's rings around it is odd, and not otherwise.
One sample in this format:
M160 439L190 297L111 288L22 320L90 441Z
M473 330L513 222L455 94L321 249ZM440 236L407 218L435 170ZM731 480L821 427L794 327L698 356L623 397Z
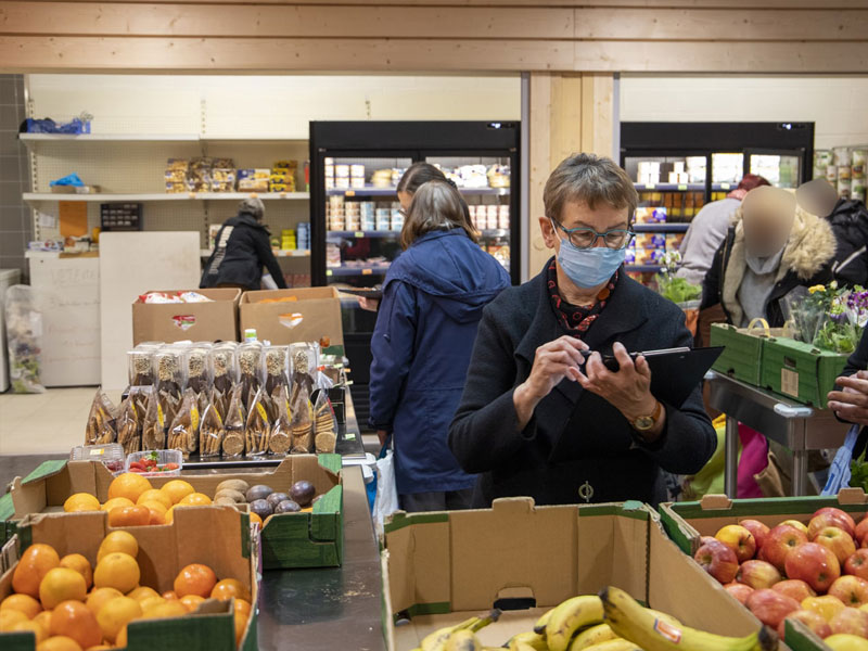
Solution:
M605 368L599 353L591 354L585 365L585 373L579 372L578 383L585 391L605 398L633 422L642 416L651 416L658 406L656 398L651 394L651 369L648 360L639 356L634 363L623 344L615 343L612 352L620 366L616 372ZM658 420L651 432L644 433L646 437L654 437L663 430L663 419Z

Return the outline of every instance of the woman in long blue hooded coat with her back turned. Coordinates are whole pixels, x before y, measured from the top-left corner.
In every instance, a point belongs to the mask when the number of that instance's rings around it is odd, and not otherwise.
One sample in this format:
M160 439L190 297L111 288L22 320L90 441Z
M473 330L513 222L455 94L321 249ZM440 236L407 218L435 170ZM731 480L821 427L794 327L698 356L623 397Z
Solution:
M458 467L446 433L464 386L483 307L509 275L475 242L458 191L417 190L388 269L371 340L370 421L392 433L406 511L470 506L474 477Z

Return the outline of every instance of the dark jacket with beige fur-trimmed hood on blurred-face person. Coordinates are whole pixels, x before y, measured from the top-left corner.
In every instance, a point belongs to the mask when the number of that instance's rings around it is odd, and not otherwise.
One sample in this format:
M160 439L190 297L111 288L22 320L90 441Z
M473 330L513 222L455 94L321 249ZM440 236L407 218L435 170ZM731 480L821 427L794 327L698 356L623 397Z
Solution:
M800 285L825 284L832 280L835 237L829 224L797 207L792 231L783 247L775 288L766 303L766 321L781 328L786 321L781 299ZM702 309L720 305L727 321L741 326L744 311L738 299L746 269L742 209L733 217L727 238L714 256L702 286Z

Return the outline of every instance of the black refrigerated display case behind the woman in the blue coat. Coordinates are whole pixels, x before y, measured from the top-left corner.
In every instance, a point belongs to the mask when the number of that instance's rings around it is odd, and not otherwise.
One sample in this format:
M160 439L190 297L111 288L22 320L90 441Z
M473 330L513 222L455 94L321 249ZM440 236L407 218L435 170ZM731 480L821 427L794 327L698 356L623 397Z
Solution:
M481 246L520 281L520 125L515 122L310 123L311 278L315 286L376 290L400 253L396 186L413 163L439 167L468 203ZM341 294L359 422L368 420L376 314Z

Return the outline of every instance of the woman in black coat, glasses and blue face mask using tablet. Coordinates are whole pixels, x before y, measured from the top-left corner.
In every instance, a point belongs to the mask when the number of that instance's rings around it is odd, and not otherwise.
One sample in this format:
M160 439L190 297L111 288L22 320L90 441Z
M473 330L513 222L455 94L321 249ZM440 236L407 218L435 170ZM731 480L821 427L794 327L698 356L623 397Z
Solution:
M637 201L609 158L577 154L549 177L539 226L556 256L483 310L449 427L461 468L480 474L474 507L509 496L656 505L661 469L692 474L714 452L699 385L680 407L664 404L646 359L627 355L692 341L684 312L623 268ZM616 372L601 359L612 353Z

